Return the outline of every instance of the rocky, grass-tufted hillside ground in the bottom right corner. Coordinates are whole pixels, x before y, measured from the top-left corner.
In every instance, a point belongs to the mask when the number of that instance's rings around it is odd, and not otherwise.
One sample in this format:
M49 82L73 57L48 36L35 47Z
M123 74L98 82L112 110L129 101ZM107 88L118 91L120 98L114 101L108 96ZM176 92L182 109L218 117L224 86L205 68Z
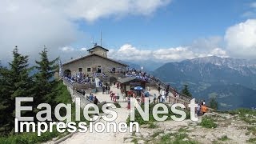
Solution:
M255 143L255 110L206 113L198 122L152 122L140 133L129 134L125 143Z

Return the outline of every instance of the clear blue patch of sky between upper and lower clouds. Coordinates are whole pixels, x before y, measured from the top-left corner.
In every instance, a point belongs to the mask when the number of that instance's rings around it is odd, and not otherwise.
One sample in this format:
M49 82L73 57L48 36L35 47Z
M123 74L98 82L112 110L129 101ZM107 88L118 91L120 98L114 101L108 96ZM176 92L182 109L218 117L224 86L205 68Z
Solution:
M141 48L180 46L197 38L224 35L229 26L246 20L242 14L249 3L175 0L147 17L100 18L93 23L82 20L79 26L97 42L102 30L103 45L114 48L123 43Z

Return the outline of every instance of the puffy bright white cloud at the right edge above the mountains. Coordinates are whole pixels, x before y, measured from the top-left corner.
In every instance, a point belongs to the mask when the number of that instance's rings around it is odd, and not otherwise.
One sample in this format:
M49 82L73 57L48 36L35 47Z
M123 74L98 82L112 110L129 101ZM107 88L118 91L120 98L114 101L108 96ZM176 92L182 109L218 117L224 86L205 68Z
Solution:
M225 34L226 50L234 57L256 57L256 19L230 26Z

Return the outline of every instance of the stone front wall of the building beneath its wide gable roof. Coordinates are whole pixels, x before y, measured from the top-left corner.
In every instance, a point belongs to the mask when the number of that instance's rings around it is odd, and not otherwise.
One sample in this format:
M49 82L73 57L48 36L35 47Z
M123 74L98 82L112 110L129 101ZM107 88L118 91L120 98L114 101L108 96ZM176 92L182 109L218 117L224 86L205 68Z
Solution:
M102 68L102 73L109 73L110 68L115 68L115 71L126 70L126 66L97 55L92 55L63 65L63 71L70 70L72 75L77 74L79 72L79 68L82 68L82 73L84 74L96 73L98 68ZM90 72L87 71L88 68L90 68Z

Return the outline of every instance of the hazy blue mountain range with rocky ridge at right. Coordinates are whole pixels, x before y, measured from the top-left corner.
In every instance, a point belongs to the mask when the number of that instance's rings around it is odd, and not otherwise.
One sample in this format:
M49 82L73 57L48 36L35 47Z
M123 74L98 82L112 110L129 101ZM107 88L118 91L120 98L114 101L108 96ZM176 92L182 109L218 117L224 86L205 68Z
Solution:
M256 107L256 61L216 56L168 62L152 73L178 90L189 85L194 98L217 98L219 110Z

